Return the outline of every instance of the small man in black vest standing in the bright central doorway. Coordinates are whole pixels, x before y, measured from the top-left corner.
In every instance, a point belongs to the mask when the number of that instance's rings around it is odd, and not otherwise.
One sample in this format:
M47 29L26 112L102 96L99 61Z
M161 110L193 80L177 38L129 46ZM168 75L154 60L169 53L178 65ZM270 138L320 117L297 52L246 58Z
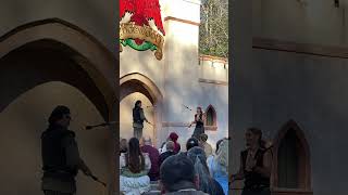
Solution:
M144 120L150 123L144 115L144 109L141 108L141 101L138 100L133 108L134 136L138 140L142 138Z

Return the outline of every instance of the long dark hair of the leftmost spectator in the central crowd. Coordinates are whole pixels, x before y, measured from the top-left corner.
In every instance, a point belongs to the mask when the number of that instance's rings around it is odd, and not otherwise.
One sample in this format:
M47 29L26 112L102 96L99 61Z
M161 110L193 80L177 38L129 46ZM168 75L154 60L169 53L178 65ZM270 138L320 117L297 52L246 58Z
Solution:
M138 173L145 168L145 160L140 151L139 140L132 138L128 142L128 155L127 155L127 167L134 172Z

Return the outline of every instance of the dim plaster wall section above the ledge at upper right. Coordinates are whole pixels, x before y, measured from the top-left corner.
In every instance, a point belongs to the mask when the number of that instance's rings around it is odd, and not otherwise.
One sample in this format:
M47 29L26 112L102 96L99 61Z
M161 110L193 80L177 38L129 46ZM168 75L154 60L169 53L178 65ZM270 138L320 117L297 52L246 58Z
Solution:
M345 0L340 8L334 6L334 0L252 0L253 36L347 46L347 5Z

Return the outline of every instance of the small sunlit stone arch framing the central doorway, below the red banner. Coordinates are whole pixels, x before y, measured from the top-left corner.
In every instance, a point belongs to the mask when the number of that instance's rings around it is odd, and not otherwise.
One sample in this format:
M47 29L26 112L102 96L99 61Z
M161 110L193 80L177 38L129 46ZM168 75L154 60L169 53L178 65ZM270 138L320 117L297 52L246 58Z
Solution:
M162 128L162 101L163 95L154 82L139 73L132 73L123 76L120 79L120 102L132 93L141 93L145 95L153 106L153 123L154 123L154 138L153 144L158 144L158 136ZM132 115L129 115L132 117Z

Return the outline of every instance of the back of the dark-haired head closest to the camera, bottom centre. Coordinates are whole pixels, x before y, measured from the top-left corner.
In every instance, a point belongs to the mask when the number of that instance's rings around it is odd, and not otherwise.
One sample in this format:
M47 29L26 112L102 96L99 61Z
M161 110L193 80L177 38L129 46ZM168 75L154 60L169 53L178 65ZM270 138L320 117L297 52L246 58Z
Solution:
M192 161L179 153L167 157L160 168L160 178L167 192L183 188L196 188Z

